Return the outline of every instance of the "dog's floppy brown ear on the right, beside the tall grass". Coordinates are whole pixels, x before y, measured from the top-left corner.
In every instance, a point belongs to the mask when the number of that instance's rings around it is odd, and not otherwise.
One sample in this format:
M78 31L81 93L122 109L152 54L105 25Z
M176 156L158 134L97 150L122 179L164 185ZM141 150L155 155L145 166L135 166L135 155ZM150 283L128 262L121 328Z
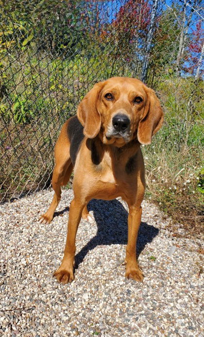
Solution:
M151 144L152 136L159 131L164 121L160 101L154 90L145 87L147 102L137 129L137 139L141 144Z

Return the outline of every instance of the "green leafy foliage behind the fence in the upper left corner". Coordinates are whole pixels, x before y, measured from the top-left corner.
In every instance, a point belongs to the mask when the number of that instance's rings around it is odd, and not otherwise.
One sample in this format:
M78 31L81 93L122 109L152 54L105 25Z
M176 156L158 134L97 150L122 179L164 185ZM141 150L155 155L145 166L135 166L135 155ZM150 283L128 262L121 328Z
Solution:
M73 48L82 49L90 28L89 15L77 0L4 0L0 7L1 48L17 45L23 49L34 41L38 49L66 50L70 57Z

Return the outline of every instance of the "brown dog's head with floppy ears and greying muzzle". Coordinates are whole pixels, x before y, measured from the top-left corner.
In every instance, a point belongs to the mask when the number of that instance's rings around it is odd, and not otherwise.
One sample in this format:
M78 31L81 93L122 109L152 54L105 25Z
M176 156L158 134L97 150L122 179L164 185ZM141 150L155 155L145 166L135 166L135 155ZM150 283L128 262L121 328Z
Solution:
M95 84L79 104L77 117L86 137L99 135L104 144L118 147L136 137L141 144L150 144L163 123L155 92L128 77Z

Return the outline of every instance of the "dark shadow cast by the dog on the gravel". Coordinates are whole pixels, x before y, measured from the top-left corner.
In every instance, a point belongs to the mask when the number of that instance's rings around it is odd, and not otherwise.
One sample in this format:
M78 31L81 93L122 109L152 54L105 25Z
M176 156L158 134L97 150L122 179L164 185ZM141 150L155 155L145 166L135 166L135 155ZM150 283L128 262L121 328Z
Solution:
M88 203L88 211L93 211L97 223L97 234L75 256L75 269L83 262L85 255L98 245L127 244L128 213L118 200L93 199ZM152 242L159 230L146 222L141 222L136 245L137 256L148 242Z

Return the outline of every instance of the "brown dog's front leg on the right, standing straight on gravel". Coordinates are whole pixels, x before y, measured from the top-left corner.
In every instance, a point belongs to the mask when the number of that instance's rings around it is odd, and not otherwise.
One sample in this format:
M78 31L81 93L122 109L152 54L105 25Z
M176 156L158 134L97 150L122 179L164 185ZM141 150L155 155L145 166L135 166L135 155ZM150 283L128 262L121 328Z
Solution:
M139 270L136 260L136 239L141 222L142 207L129 206L128 215L128 244L126 247L126 273L127 278L142 281L144 276Z

